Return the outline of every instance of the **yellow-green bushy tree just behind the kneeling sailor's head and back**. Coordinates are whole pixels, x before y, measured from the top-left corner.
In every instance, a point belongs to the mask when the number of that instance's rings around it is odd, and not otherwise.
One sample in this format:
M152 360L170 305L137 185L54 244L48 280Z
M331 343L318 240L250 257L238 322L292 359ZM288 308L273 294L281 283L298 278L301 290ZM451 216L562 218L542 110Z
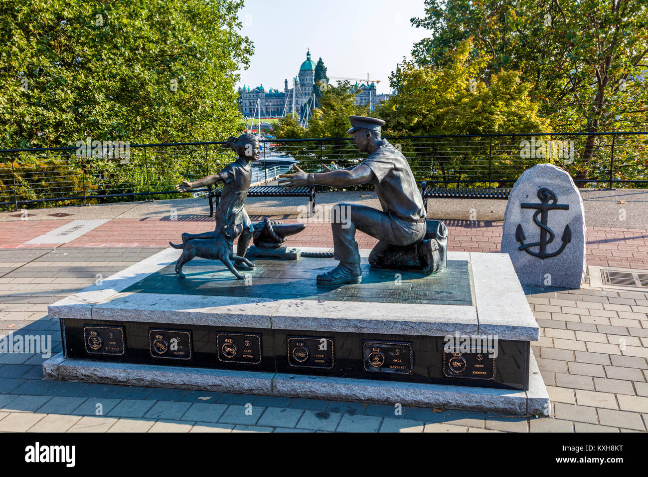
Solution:
M392 86L398 84L398 94L376 107L377 116L387 123L384 134L548 132L549 121L538 114L540 104L529 98L531 86L520 80L517 71L502 71L484 82L480 72L489 63L489 57L480 54L472 58L473 50L472 42L465 40L455 51L446 53L447 61L443 58L439 62L443 66L403 62L391 75ZM421 178L446 183L456 179L457 187L462 180L484 177L489 170L495 169L495 177L501 180L515 180L524 170L520 161L512 160L519 149L509 138L462 137L398 143Z

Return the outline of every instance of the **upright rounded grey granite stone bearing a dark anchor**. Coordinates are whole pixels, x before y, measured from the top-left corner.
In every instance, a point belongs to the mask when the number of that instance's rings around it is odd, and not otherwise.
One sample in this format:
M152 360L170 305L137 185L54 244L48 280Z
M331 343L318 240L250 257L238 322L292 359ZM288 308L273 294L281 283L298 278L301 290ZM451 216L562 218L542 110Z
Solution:
M583 199L564 169L538 164L515 182L504 215L502 252L511 256L522 284L581 287Z

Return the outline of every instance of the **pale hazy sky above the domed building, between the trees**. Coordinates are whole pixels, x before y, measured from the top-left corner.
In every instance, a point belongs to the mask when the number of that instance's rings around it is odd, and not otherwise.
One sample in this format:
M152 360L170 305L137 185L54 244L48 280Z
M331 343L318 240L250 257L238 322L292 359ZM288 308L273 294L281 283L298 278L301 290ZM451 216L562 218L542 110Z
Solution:
M310 48L329 77L366 79L369 73L381 81L377 93L389 93L391 71L430 34L411 26L410 18L423 15L423 0L246 0L240 33L254 42L255 53L237 86L283 91L288 79L290 88Z

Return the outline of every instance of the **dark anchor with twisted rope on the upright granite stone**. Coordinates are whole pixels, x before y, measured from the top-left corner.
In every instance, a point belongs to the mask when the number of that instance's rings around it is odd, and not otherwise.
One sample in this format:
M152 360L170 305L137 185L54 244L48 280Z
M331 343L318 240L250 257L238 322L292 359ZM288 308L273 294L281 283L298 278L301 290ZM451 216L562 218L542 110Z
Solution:
M520 243L518 250L524 250L527 252L527 254L533 255L540 259L555 257L557 255L560 255L562 251L564 251L567 244L572 241L572 229L569 225L566 225L564 231L562 232L561 247L555 252L548 253L547 245L553 242L553 239L556 236L553 230L551 230L551 228L549 228L549 226L547 225L549 211L569 210L569 204L558 204L558 198L556 197L555 193L553 193L546 187L540 188L538 190L538 199L540 199L540 204L527 202L520 204L520 208L536 209L536 212L533 214L533 221L538 227L540 227L540 241L525 243L526 235L524 234L522 224L518 224L517 228L515 229L515 239L516 241L518 241L518 243ZM540 217L539 221L538 216ZM537 252L531 251L529 250L531 249L531 247L539 247L539 250Z

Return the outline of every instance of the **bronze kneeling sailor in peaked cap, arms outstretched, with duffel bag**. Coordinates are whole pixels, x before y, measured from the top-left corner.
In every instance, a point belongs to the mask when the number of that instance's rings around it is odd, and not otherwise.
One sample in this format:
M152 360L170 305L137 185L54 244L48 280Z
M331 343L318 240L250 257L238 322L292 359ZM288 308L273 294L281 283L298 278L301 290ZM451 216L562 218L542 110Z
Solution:
M351 116L354 144L369 157L358 165L336 171L284 174L279 185L296 188L307 184L353 186L374 184L382 211L358 204L338 204L333 209L334 258L340 264L318 275L322 286L362 282L360 253L355 232L361 230L377 238L369 263L380 268L418 268L425 275L446 267L447 229L443 223L426 223L421 193L407 159L387 140L381 138L382 119Z

